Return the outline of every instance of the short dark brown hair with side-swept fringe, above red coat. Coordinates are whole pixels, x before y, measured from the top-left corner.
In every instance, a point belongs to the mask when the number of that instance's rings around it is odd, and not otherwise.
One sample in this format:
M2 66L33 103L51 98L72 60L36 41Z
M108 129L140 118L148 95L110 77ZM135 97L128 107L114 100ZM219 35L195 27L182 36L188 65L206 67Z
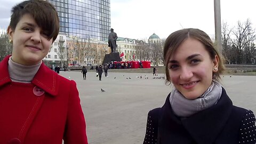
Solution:
M46 31L47 37L53 41L59 34L60 20L52 4L42 0L29 0L12 7L10 27L15 30L17 23L25 14L31 14L37 25Z

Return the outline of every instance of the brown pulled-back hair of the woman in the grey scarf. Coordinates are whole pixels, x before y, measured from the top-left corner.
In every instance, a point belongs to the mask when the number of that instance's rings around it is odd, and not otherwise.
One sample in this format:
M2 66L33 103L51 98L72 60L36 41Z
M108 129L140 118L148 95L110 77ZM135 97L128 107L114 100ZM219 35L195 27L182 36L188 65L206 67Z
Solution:
M218 71L212 74L212 78L216 81L220 81L220 75L225 70L223 65L223 60L219 52L213 46L211 38L202 30L188 28L174 31L169 37L167 37L164 44L164 62L165 62L165 74L166 74L166 83L171 83L168 63L171 56L178 49L178 47L188 38L196 39L205 46L205 50L209 53L210 58L214 59L215 55L219 57L219 66Z

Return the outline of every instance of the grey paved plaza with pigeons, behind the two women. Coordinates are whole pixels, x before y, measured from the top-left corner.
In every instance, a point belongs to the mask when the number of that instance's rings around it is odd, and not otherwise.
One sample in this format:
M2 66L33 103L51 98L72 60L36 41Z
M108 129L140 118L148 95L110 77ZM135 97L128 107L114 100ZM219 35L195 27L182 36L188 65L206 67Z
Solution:
M172 89L165 79L153 78L164 74L108 73L102 81L95 72L87 73L85 81L81 71L60 71L60 75L77 83L89 144L142 143L148 111L161 107ZM256 113L256 76L221 78L234 105Z

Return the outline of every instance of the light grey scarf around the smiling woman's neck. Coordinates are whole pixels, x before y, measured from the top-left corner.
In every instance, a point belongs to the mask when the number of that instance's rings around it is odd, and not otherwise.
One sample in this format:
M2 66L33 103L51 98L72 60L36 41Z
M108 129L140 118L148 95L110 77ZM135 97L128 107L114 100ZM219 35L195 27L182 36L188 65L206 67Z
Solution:
M186 99L177 89L173 89L170 95L170 103L175 115L189 117L215 105L220 99L222 87L218 82L212 82L211 86L197 99Z

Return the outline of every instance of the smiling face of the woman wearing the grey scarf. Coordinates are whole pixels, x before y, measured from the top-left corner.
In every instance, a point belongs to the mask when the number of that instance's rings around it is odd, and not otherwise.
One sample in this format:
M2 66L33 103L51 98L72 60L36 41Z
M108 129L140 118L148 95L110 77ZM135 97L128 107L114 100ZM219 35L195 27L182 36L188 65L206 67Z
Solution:
M188 38L170 57L170 80L185 98L196 99L211 85L218 62L218 56L211 59L201 42Z

